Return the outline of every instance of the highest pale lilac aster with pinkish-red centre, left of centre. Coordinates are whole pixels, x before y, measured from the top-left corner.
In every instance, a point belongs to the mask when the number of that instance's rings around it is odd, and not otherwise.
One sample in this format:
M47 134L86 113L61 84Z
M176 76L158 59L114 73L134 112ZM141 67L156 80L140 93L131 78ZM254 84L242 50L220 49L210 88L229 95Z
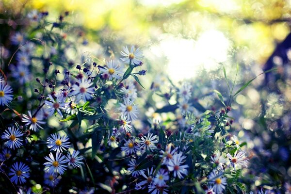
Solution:
M85 79L82 79L79 83L79 86L77 84L73 85L73 92L71 93L71 96L76 96L76 103L78 103L81 99L83 101L87 101L92 98L92 94L94 93L94 87L90 87L93 85L92 83L89 83Z

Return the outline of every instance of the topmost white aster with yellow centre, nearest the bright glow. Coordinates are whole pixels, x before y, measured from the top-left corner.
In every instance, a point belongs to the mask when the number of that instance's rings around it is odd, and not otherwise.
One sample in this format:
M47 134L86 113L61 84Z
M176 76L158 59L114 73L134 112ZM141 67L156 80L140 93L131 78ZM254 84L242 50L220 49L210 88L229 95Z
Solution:
M142 61L140 60L143 58L143 52L138 49L135 50L135 47L132 45L130 52L128 47L123 47L123 51L121 51L121 55L125 56L121 60L130 65L140 65Z

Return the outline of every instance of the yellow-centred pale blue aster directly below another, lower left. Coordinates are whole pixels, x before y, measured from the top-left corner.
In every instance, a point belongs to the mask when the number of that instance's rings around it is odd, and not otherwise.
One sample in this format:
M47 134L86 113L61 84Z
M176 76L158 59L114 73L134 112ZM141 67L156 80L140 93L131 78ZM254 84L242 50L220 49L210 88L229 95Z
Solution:
M59 173L60 175L63 175L65 172L64 163L66 162L65 156L62 155L62 153L58 152L56 153L56 158L52 155L52 153L49 153L49 157L45 157L45 159L49 162L45 162L45 170L53 175L54 173Z

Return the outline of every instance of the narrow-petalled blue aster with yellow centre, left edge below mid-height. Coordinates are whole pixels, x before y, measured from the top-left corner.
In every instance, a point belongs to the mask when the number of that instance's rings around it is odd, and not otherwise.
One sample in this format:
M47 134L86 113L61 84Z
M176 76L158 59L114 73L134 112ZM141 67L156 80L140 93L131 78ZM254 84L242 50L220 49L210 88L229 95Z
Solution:
M19 137L23 136L23 133L19 129L15 129L14 127L8 127L4 131L4 134L1 136L2 139L8 139L5 145L9 148L15 149L22 146L22 140Z

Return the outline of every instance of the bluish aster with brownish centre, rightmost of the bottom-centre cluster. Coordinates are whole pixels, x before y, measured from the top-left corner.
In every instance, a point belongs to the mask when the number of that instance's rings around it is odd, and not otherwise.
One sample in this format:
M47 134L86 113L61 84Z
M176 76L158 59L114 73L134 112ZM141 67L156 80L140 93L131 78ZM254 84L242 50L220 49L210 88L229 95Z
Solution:
M183 178L183 175L187 175L188 171L186 168L189 166L187 164L181 165L183 163L186 156L182 156L182 153L175 154L173 159L168 162L168 169L169 171L174 171L174 177Z

